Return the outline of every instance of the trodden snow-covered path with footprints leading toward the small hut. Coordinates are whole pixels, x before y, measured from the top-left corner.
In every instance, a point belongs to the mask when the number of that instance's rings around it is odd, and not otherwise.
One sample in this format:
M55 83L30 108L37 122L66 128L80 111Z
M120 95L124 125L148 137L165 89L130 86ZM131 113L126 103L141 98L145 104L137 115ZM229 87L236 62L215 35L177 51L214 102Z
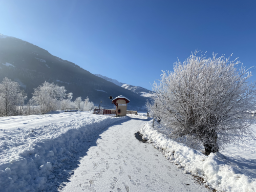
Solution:
M129 118L107 127L80 158L74 174L49 191L208 191L152 144L135 138L146 121Z

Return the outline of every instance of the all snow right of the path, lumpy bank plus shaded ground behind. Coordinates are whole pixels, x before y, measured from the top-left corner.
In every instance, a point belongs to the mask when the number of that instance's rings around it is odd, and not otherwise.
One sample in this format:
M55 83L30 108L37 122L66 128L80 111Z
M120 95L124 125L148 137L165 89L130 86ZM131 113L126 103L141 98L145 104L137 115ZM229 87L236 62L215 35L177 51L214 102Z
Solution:
M225 151L205 156L183 143L166 137L166 130L153 120L145 123L140 133L147 142L162 150L166 159L182 168L184 174L204 178L205 185L218 191L256 191L256 139L231 144ZM256 132L256 126L252 129Z

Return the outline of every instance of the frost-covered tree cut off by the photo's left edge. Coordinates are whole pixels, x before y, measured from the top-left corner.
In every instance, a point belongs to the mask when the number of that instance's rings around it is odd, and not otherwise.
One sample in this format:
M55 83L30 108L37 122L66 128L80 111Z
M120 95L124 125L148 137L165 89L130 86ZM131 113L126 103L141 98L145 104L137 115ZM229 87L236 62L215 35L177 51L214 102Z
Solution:
M26 94L19 84L5 77L0 83L0 116L22 115Z

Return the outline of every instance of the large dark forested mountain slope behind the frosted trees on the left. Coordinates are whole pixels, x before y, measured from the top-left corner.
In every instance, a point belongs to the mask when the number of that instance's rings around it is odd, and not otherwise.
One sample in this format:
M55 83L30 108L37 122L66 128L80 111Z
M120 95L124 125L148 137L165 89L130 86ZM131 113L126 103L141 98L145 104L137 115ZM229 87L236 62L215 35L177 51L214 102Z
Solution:
M143 110L146 102L146 98L97 77L73 62L27 41L0 34L0 82L4 77L19 82L28 98L32 97L35 88L48 81L65 86L67 93L73 93L73 99L89 96L96 105L102 101L102 106L112 107L110 95L129 98L128 110Z

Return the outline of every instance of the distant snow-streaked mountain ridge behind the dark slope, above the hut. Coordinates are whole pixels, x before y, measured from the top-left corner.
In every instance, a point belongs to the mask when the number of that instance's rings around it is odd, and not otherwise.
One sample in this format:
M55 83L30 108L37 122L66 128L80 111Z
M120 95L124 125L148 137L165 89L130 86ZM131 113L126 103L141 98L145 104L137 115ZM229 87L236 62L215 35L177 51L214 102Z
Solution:
M145 88L142 88L142 87L139 87L139 86L131 86L130 84L122 83L122 82L119 82L116 79L112 79L112 78L109 78L109 77L106 77L106 76L103 76L103 75L100 75L100 74L94 74L94 75L96 75L98 77L101 77L102 79L105 79L107 81L113 82L117 86L120 86L124 89L130 90L130 91L132 91L132 92L134 92L137 95L140 95L142 97L151 97L151 95L152 95L152 94L150 94L151 91L147 90Z

